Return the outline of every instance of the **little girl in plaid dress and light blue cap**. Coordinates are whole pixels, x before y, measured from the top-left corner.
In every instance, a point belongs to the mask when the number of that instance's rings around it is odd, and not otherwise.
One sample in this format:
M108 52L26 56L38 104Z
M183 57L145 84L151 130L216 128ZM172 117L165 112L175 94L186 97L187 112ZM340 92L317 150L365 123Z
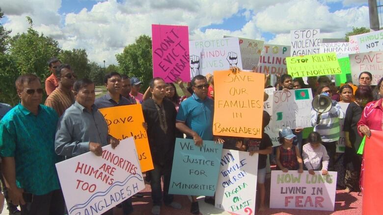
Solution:
M276 166L283 172L288 170L297 170L303 172L303 163L301 153L296 145L293 145L296 136L289 128L283 128L279 131L279 145L276 148Z

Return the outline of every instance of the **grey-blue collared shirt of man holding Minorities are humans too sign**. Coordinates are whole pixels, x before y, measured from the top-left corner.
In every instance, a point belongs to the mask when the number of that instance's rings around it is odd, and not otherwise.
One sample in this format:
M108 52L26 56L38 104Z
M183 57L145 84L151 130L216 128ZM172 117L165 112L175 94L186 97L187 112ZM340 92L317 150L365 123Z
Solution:
M55 151L58 155L74 157L89 151L89 142L108 144L108 125L98 108L89 111L77 101L57 123Z

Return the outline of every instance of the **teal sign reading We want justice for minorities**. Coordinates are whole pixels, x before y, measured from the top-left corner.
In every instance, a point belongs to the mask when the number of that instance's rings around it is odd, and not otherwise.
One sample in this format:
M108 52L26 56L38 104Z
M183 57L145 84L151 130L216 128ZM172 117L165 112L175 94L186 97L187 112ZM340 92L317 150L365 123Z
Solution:
M203 141L196 146L192 139L177 138L169 193L213 196L217 190L222 144Z

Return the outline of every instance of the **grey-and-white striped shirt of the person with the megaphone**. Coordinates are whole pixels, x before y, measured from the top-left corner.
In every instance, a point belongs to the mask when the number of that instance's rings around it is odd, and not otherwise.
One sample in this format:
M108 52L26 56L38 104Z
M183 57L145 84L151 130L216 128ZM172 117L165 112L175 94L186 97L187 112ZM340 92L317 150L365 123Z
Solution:
M339 119L344 119L344 112L336 101L332 101L332 107L329 112L321 115L317 124L318 112L311 110L311 125L314 126L314 131L321 135L322 142L334 142L339 140Z

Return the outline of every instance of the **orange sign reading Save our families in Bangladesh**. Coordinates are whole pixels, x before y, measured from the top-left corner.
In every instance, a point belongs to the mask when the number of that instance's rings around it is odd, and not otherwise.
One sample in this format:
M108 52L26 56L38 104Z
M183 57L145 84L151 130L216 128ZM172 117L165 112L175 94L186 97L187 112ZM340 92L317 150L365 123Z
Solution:
M214 72L214 135L261 138L264 81L256 72Z

